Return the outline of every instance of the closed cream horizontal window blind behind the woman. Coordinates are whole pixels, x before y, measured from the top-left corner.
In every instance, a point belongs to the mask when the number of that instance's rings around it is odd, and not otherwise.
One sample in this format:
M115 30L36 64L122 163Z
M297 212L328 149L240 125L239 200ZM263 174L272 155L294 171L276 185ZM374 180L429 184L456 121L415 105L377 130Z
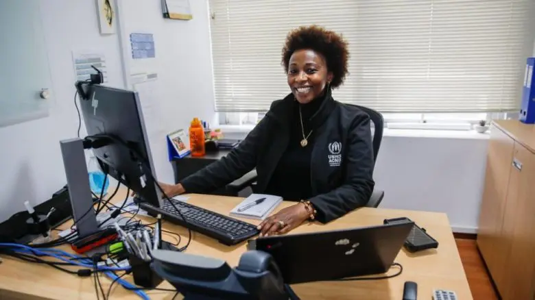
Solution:
M532 54L532 0L209 0L217 111L265 111L289 93L287 33L348 41L333 97L381 112L516 110Z

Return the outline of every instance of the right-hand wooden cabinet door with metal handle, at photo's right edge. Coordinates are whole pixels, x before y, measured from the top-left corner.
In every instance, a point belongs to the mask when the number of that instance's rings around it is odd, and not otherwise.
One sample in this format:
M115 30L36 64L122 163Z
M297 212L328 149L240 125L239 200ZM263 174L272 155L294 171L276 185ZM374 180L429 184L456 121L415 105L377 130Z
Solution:
M535 276L535 154L515 143L503 237L509 260L503 266L503 300L532 299Z

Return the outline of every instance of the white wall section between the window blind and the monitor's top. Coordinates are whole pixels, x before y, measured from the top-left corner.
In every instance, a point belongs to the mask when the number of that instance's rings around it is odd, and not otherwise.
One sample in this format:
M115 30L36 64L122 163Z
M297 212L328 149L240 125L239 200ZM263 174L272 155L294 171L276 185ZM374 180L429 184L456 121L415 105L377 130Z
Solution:
M152 120L149 122L153 124L147 124L147 127L156 128L150 133L150 147L156 175L165 182L174 181L171 164L167 160L166 134L176 129L187 129L193 116L209 122L215 116L208 1L189 2L193 19L181 21L163 18L160 1L119 1L127 80L131 74L158 73L155 83L158 101L154 107L158 111L158 124ZM131 33L154 34L156 57L132 59Z

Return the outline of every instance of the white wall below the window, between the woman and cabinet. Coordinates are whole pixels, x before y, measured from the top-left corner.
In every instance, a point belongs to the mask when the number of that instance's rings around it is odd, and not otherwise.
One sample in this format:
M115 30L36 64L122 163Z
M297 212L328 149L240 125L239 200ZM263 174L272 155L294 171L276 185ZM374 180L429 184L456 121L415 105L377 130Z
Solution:
M486 138L385 136L375 166L381 208L446 212L455 232L475 233Z

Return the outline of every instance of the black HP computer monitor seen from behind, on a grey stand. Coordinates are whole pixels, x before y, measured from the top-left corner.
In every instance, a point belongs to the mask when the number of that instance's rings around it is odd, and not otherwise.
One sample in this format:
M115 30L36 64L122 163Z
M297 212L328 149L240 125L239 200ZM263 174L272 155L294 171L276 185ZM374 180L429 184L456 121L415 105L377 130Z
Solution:
M93 148L100 168L128 186L141 201L161 207L162 192L154 182L154 163L138 93L99 84L86 89L88 99L80 100L80 110L88 136L104 134L126 142L123 145L108 140L103 147Z

